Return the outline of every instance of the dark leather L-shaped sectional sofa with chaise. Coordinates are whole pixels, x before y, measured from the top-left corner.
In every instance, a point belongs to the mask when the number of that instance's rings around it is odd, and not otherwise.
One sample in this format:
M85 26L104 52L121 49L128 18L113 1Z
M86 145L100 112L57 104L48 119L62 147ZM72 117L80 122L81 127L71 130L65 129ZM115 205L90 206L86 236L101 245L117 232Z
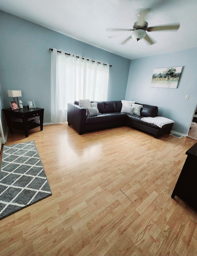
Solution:
M121 101L91 102L98 103L98 111L100 114L97 116L86 116L86 108L80 107L79 101L68 103L68 125L72 125L80 135L87 131L115 126L129 126L152 134L155 138L171 132L173 123L163 125L162 128L159 128L159 126L154 124L141 121L141 118L143 117L156 117L158 113L157 106L136 103L143 105L143 108L140 111L140 116L138 116L121 113Z

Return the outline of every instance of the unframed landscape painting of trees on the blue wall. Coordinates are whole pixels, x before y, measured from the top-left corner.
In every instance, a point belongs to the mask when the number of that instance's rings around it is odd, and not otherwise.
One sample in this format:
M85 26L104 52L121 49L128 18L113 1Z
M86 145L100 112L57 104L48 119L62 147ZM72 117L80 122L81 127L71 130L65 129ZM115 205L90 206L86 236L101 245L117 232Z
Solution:
M155 68L151 87L177 88L183 67Z

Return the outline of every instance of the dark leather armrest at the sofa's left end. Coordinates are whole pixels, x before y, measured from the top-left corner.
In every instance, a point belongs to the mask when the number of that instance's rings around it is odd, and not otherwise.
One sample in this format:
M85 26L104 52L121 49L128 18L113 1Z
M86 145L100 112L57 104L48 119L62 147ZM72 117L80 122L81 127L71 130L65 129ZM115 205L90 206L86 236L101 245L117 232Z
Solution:
M68 103L67 121L68 125L72 125L81 135L86 126L86 108Z

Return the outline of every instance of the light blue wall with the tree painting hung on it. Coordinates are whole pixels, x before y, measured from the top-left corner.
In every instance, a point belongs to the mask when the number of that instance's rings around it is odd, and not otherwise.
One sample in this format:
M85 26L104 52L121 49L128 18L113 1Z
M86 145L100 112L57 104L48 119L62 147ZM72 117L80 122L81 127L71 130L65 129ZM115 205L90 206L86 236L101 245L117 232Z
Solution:
M175 121L172 130L187 134L197 104L196 60L197 48L131 60L126 100L158 106L160 116ZM150 87L155 68L178 66L183 71L177 89Z

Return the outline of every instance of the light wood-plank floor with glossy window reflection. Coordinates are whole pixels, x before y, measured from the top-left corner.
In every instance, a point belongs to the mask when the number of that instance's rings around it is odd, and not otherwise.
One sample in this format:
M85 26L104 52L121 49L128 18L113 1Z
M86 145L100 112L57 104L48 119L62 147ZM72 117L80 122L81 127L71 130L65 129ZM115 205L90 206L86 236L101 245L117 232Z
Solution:
M34 140L52 196L0 220L0 255L197 255L197 211L171 198L195 140L67 123L14 132L7 145Z

